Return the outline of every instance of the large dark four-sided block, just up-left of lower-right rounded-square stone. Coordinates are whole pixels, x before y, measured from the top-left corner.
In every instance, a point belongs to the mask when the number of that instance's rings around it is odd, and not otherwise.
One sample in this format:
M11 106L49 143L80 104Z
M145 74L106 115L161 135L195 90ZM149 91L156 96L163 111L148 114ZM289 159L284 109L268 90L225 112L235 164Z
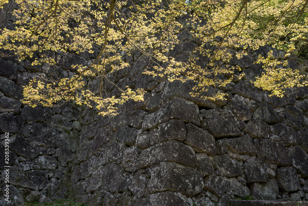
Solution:
M262 163L286 166L290 163L286 146L282 142L259 139L258 159Z

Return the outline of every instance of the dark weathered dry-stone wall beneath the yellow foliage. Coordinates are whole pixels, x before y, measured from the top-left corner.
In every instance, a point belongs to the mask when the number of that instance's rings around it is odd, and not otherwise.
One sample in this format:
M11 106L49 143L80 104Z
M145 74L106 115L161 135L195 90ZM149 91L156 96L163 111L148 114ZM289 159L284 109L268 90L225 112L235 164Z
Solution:
M194 46L180 44L170 55L186 61ZM270 49L233 59L231 64L246 76L220 88L228 100L217 102L190 97L193 82L143 75L149 59L138 52L123 54L130 66L108 78L120 88L147 93L143 102L120 105L115 117L72 103L33 109L19 102L31 78L71 77L76 72L72 64L90 64L95 55L50 53L55 66L1 59L0 153L9 132L11 201L1 199L0 205L61 198L96 206L222 206L245 196L308 200L308 89L277 98L250 83L262 72L261 65L253 64L257 55ZM199 64L206 67L207 62L201 58ZM99 92L99 79L84 81ZM103 89L120 95L112 84L104 83ZM3 155L0 168L3 192Z

